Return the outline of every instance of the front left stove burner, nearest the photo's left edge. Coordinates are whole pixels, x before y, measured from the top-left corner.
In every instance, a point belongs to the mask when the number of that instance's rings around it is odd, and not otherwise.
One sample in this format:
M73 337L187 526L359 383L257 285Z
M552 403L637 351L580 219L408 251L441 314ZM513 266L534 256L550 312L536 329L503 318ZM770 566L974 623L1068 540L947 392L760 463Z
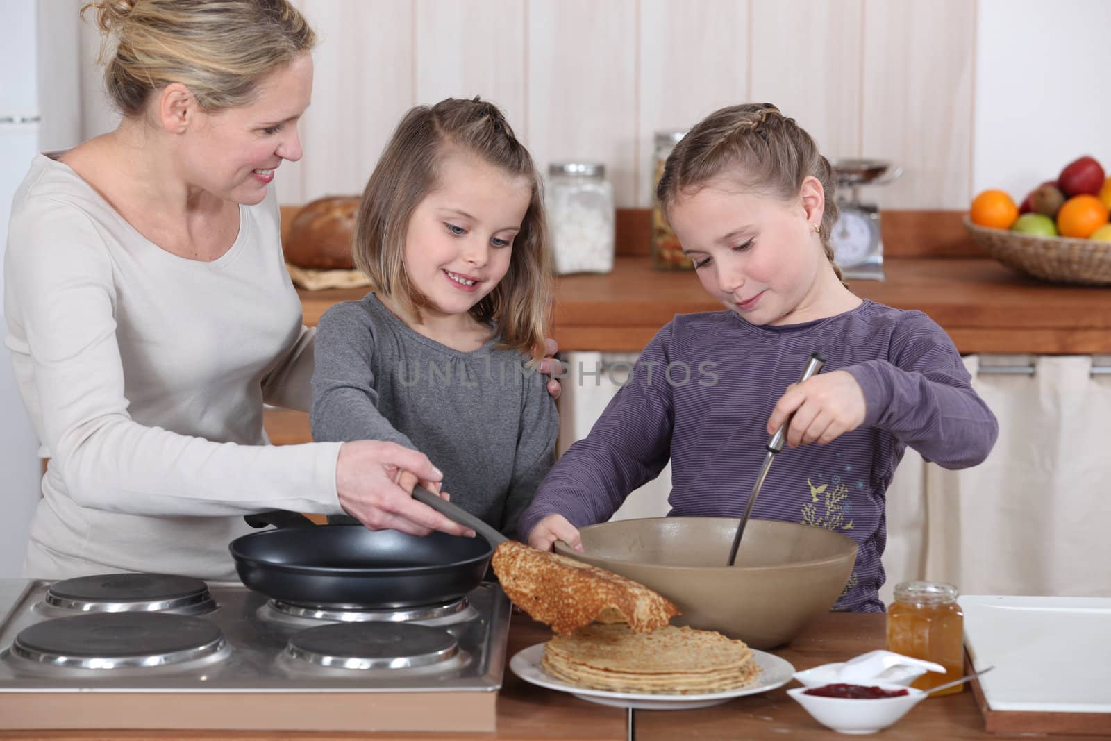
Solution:
M94 613L34 623L16 635L11 653L74 669L163 667L224 649L223 633L200 618L158 612Z

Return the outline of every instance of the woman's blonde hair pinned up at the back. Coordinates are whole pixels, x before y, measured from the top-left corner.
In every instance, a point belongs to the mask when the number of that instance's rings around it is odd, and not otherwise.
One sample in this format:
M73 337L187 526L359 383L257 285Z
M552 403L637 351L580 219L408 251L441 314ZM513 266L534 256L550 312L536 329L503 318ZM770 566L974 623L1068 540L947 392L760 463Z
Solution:
M81 18L90 9L104 87L124 116L171 82L189 88L204 111L246 106L263 78L316 43L287 0L102 0L81 8Z

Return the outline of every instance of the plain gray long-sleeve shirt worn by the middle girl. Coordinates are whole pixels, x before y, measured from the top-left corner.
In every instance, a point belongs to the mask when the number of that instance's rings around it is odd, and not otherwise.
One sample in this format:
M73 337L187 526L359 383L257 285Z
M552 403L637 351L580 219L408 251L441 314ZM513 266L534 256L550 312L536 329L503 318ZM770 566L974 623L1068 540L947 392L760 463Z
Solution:
M544 377L497 343L453 350L373 293L333 306L317 329L313 439L419 450L452 502L514 537L554 460L559 420Z

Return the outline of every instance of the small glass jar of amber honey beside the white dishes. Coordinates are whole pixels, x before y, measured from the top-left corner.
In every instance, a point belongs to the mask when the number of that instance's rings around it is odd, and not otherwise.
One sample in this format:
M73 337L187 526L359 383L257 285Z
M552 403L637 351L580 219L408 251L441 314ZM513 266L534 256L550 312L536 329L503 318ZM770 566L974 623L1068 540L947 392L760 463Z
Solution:
M959 679L964 670L964 613L957 603L957 588L930 581L898 584L895 601L888 610L888 650L935 661L945 668L944 674L932 671L922 674L911 687L929 691ZM938 695L963 689L963 684L958 684Z

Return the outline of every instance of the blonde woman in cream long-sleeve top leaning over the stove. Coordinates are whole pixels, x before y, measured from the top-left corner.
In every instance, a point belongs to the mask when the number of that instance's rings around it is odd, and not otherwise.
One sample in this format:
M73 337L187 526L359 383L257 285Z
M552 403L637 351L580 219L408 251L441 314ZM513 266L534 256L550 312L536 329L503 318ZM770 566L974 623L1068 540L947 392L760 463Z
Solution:
M301 158L304 18L286 0L89 9L116 42L106 82L122 121L34 159L6 256L4 343L50 459L24 573L234 579L241 515L272 508L466 533L406 490L439 485L423 454L267 444L263 401L311 398L313 332L268 188Z

